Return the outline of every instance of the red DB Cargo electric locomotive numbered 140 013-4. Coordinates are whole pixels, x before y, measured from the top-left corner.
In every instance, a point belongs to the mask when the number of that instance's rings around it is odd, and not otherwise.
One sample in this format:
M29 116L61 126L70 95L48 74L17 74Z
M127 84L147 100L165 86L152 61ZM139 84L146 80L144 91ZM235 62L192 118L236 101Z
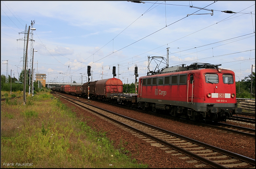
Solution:
M168 67L140 77L137 102L142 109L168 110L191 120L226 121L236 108L235 74L208 63Z

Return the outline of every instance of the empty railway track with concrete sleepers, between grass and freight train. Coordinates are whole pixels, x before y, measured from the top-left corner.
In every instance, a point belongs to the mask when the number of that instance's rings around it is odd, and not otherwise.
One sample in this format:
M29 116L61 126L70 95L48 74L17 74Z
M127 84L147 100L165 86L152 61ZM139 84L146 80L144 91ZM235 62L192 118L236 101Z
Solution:
M208 165L216 168L255 167L255 160L252 158L199 142L67 96L59 96L98 116L100 115L101 118L145 140L152 146L165 150L166 153L171 153L171 155L178 156L181 159L187 159L186 162L193 163L195 167L207 167Z

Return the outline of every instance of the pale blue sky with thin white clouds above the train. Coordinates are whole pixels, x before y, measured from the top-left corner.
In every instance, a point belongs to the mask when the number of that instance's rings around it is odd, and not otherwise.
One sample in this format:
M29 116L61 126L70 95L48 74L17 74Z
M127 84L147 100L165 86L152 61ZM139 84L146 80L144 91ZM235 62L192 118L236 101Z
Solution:
M146 75L148 56L166 58L168 47L169 66L221 64L235 72L236 81L251 74L255 1L143 2L1 1L1 74L6 74L5 60L9 75L11 69L12 77L21 72L24 34L20 32L31 20L36 28L32 45L38 51L35 73L46 74L46 81L81 83L83 76L84 83L88 65L93 81L102 78L102 71L103 79L113 77L113 66L118 78L119 64L119 79L132 83L135 65L139 77ZM29 62L30 51L31 41ZM156 64L166 66L153 60L150 70Z

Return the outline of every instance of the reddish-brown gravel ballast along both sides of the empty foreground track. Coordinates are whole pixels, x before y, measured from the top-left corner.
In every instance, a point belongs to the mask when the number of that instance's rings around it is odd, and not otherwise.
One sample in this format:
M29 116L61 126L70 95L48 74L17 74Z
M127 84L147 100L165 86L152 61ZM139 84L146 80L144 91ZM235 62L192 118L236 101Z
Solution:
M76 96L68 96L77 99ZM66 103L68 107L74 107L74 104L65 101L62 98L60 98L60 100ZM81 98L79 100L81 100ZM87 99L83 99L82 101L86 100ZM91 101L90 104L255 159L255 138L152 116L149 114L140 113L136 110L119 108L106 103ZM73 111L76 112L77 116L84 116L87 124L92 128L95 128L98 131L107 131L108 138L114 141L116 148L118 148L121 140L123 143L127 142L128 144L123 144L123 146L129 151L128 155L131 154L132 159L135 158L139 163L148 164L148 167L150 168L195 168L195 164L189 164L186 162L188 159L179 159L178 157L165 153L164 150L151 146L150 143L133 136L129 132L121 130L115 125L108 123L95 115L92 115L84 109L76 107L73 109ZM87 116L91 116L95 120L86 118ZM248 127L244 125L245 124L243 124L243 127ZM255 126L253 127L255 128ZM193 159L190 158L190 160ZM205 166L205 168L208 167L210 166Z

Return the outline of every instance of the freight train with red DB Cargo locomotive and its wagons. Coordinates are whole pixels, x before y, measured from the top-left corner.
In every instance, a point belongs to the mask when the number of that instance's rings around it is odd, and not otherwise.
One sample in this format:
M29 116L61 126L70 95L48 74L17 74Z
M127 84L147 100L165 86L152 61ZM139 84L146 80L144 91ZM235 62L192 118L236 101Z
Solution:
M52 91L84 96L106 102L167 112L199 121L226 121L242 112L237 108L235 74L220 65L193 63L167 67L138 81L138 94L124 94L120 79L93 81L82 86L53 87Z

